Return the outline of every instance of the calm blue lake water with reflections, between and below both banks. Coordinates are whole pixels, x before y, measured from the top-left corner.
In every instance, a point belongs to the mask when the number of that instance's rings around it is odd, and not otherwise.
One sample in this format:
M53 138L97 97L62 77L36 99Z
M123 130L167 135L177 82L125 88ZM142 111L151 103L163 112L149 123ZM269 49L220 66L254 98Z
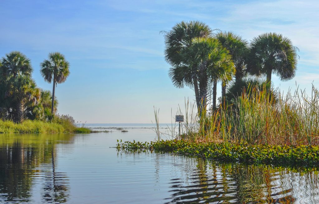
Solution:
M315 171L118 151L152 125L101 126L128 132L0 135L0 203L319 203Z

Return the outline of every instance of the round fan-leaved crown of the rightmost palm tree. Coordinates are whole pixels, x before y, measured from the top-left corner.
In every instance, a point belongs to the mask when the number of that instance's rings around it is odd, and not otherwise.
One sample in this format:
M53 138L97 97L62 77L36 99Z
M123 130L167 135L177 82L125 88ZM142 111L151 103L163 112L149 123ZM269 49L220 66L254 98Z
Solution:
M292 79L297 70L297 50L282 34L261 34L251 42L248 71L257 76L265 74L270 82L272 73L280 80Z

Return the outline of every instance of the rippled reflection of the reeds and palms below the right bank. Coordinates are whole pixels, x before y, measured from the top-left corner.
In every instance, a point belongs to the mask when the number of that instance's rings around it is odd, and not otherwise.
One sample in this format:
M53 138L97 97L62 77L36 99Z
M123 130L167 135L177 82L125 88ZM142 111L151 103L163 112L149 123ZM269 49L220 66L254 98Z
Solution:
M138 157L151 152L118 151ZM164 203L319 203L316 171L269 165L219 163L174 154L154 154L154 179L159 172L183 172L171 175L170 196ZM171 161L168 161L171 160Z

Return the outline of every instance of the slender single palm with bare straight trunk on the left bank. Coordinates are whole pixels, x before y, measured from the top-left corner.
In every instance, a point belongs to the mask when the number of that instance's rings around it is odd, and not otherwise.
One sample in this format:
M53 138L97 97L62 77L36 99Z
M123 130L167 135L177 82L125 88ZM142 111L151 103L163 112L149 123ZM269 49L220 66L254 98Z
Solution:
M41 63L41 75L45 81L53 82L51 115L54 116L54 99L56 84L63 83L69 76L69 62L65 60L63 54L52 52L48 55L48 59Z

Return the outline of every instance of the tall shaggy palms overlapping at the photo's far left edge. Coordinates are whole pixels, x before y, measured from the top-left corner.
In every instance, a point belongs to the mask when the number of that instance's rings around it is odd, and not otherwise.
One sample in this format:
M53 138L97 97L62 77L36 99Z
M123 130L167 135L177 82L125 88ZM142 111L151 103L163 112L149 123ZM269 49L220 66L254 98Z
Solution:
M5 117L16 123L23 121L28 105L39 100L39 89L31 78L33 68L30 59L19 51L6 54L1 59L1 110Z

